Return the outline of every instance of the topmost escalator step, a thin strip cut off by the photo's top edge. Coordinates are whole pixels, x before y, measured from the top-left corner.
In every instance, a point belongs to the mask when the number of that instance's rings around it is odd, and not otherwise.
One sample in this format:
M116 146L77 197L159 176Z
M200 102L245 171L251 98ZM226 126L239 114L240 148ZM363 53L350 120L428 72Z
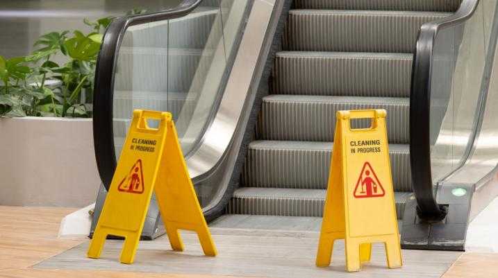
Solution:
M299 9L455 12L462 0L294 0Z

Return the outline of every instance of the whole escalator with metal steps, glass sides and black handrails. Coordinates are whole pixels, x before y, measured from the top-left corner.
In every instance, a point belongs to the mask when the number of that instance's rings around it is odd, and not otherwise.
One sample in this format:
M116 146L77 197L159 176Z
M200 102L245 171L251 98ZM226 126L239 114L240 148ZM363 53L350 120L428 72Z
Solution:
M133 109L173 113L211 227L301 232L319 231L335 112L385 109L401 243L463 250L467 224L498 194L498 127L485 121L498 90L496 10L493 0L185 0L113 21L96 76L94 223ZM160 227L152 205L142 236Z

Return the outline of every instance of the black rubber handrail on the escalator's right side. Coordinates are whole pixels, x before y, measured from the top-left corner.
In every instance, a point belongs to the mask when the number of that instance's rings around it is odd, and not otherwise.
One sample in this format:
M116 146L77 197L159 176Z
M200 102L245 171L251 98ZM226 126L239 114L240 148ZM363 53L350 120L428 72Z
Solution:
M431 73L438 32L469 20L479 0L464 0L454 15L423 24L415 46L410 93L410 165L417 213L424 220L441 220L447 211L434 196L431 173Z

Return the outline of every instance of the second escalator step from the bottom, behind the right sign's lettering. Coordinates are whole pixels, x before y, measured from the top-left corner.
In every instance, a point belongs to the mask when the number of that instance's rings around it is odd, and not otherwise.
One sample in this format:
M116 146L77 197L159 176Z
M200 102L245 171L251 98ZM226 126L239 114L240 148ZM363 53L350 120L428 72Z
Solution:
M332 142L253 141L249 144L242 182L247 187L326 189ZM390 144L395 191L411 191L408 145Z

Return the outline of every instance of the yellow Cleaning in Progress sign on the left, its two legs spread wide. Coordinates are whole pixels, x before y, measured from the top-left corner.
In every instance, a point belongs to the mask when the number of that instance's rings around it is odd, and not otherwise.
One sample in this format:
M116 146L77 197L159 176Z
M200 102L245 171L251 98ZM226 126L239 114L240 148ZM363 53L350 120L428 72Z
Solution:
M158 121L158 128L150 128L149 120ZM120 261L133 263L153 190L173 250L183 251L179 229L187 229L197 232L204 254L216 255L171 114L135 110L88 257L99 258L111 234L124 236Z

